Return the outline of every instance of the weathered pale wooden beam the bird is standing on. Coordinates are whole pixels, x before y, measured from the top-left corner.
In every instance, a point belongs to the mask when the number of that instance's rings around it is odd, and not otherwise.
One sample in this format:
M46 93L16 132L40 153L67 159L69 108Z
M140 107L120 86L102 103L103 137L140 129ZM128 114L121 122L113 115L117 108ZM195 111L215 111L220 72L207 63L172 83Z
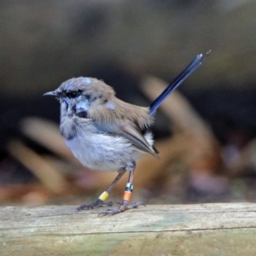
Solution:
M0 255L256 255L256 204L0 207Z

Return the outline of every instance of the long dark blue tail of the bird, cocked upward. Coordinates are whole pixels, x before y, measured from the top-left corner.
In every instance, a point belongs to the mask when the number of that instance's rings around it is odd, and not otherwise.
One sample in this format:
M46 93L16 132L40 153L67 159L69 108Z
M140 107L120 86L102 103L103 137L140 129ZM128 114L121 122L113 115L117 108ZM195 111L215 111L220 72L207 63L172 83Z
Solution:
M207 52L207 55L209 55L211 52L211 50L209 50ZM177 88L177 86L179 86L180 84L183 83L183 81L185 79L187 79L189 77L189 75L191 73L194 73L195 70L201 66L201 62L204 61L204 59L207 57L204 56L204 55L197 55L195 57L195 59L189 64L188 67L186 67L182 73L180 73L176 79L174 79L172 81L171 84L169 84L167 87L166 87L166 90L164 90L160 96L158 96L154 102L151 103L150 107L149 107L149 114L150 115L154 115L156 109L160 106L160 104L166 99L167 96L169 96L169 94L172 93L173 90L175 90Z

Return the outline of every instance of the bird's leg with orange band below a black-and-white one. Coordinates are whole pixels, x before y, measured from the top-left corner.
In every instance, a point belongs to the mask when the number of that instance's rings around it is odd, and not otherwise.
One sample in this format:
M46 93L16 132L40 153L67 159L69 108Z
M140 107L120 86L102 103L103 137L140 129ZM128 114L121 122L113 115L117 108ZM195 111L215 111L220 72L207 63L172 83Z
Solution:
M125 210L128 210L128 209L137 208L141 205L144 206L143 202L137 202L135 204L129 205L129 201L131 199L131 193L132 193L132 189L133 189L132 181L133 181L135 166L136 166L136 164L133 161L131 164L127 165L125 168L126 171L129 171L129 179L128 179L128 183L126 184L126 187L125 187L125 193L123 196L122 204L118 208L108 209L105 212L100 212L99 215L103 215L103 216L114 215L119 212L124 212Z

